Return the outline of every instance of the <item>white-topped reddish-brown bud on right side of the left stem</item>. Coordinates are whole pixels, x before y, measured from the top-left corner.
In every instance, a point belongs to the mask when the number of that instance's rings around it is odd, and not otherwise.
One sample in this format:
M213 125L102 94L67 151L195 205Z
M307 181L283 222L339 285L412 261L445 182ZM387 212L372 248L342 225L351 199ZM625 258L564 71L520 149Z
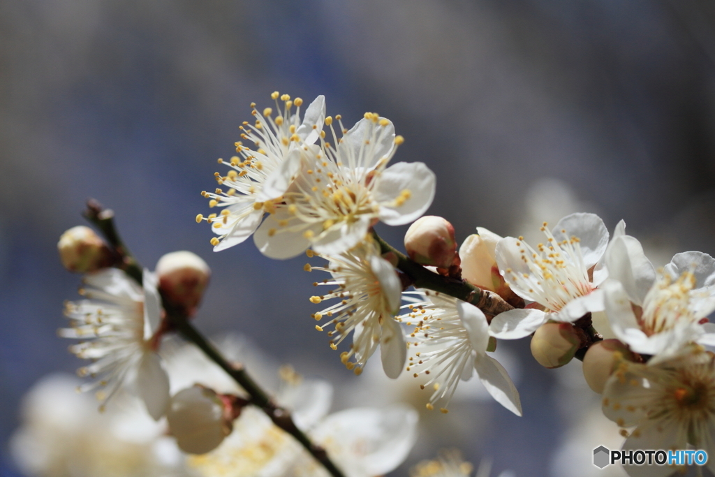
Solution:
M193 315L211 277L206 262L192 252L171 252L159 258L156 273L162 295Z

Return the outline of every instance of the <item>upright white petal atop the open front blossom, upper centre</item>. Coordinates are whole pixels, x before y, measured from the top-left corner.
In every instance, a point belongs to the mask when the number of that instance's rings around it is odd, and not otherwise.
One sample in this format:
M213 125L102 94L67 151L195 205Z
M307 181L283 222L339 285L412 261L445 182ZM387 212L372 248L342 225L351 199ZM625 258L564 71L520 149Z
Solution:
M370 169L383 157L391 156L395 148L395 127L389 119L386 126L378 124L363 118L343 134L337 144L337 157L345 167Z

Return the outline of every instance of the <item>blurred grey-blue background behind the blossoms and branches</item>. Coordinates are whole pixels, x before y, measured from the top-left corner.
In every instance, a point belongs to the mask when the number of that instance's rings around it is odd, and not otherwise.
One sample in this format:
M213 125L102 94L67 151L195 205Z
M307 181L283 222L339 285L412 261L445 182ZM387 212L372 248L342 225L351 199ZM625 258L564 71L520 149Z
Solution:
M56 242L83 223L88 197L116 212L147 267L172 250L209 263L196 321L207 334L242 333L328 378L334 410L412 399L413 387L355 391L373 378L347 372L313 329L305 257L272 261L252 240L215 254L194 222L250 102L270 106L274 90L325 94L345 124L392 119L406 139L393 160L435 171L428 213L460 240L476 226L528 236L582 210L609 230L624 219L657 265L715 255L712 2L0 0L2 475L23 475L9 451L22 395L79 366L56 338L79 279ZM380 232L400 245L405 228ZM500 350L521 376L523 418L466 393L450 414L423 416L395 475L450 447L497 473L585 476L594 447L620 445L579 363L543 369L528 340Z

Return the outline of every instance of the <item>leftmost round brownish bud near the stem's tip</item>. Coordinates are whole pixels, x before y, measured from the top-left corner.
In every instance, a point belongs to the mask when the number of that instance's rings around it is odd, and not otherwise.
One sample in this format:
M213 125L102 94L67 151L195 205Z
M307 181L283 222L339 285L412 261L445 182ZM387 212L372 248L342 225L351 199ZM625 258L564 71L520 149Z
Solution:
M84 225L64 232L57 242L59 260L70 272L96 272L112 264L112 252L107 244Z

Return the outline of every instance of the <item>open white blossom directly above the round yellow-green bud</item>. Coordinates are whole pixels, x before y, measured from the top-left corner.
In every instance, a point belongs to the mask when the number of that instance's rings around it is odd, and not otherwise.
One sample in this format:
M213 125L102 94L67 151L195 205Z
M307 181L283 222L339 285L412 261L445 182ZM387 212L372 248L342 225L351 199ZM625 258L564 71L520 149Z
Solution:
M496 315L490 323L496 338L524 338L548 320L573 323L586 313L603 310L603 293L596 289L607 277L601 266L608 246L603 220L576 213L563 217L552 231L544 222L541 231L546 244L536 249L522 237L506 237L496 246L499 271L511 290L543 308Z

